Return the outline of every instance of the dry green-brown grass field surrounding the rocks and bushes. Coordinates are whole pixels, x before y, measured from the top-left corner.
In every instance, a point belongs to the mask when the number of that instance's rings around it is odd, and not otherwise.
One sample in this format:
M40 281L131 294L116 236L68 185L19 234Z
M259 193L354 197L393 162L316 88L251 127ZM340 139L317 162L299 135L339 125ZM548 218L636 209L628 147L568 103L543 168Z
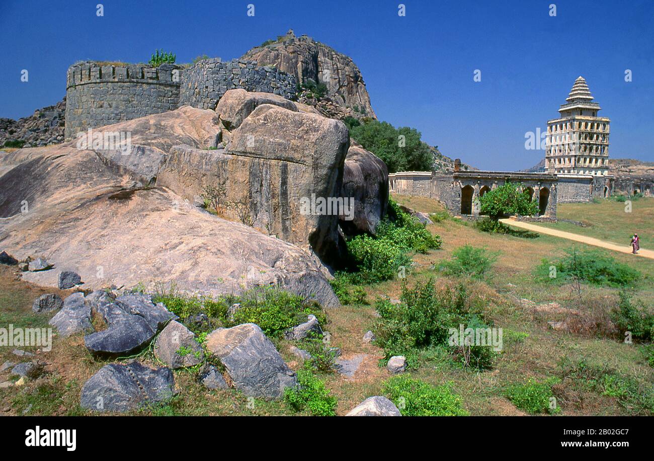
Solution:
M442 213L443 207L436 201L420 197L394 197L413 209L426 213ZM583 220L587 227L572 224L553 224L562 230L586 233L610 241L624 241L638 231L643 246L654 238L651 230L654 199L640 199L633 203L631 214L624 213L624 203L603 201L583 205L560 205L559 216ZM648 222L649 221L649 222ZM649 225L649 228L647 226ZM571 226L566 228L566 226ZM553 385L560 412L559 415L632 415L652 414L654 401L653 368L647 363L645 346L626 344L619 339L555 331L548 321L564 320L566 309L581 313L594 312L598 306L607 308L618 299L616 288L581 285L581 294L572 284L550 284L534 276L535 267L543 259L550 260L562 254L572 243L556 237L541 235L536 239L522 239L508 235L483 233L472 224L447 217L428 226L443 239L439 250L413 255L413 270L407 284L434 279L437 284L462 282L468 291L484 300L485 311L495 326L505 332L505 346L488 371L471 371L451 358L434 350L428 360L409 373L412 377L430 384L450 384L460 396L462 406L471 415L525 415L505 397L512 384L522 384L528 378L543 381L557 378ZM443 277L434 266L441 260L451 258L453 250L462 245L485 247L496 252L498 258L489 277L483 280L465 277ZM577 245L581 248L584 245ZM628 254L610 254L617 261L638 269L645 279L633 292L650 308L654 303L654 261L632 258ZM380 296L397 299L402 281L371 284L363 287L369 303L345 305L327 313L324 330L330 332L331 345L341 348L344 358L366 354L353 378L337 373L322 374L321 379L336 396L337 414L344 415L360 401L373 395L383 394L383 383L390 378L381 366L383 350L374 344L362 342L362 336L375 320L374 300ZM43 292L52 292L16 280L14 271L0 266L0 319L3 324L44 325L48 316L31 314L31 302ZM65 296L65 293L62 293ZM530 301L533 301L530 302ZM561 309L549 309L544 303L559 303ZM540 305L540 307L538 307ZM297 369L301 364L290 353L289 341L275 340L284 360ZM0 349L0 363L14 362L16 357L8 348ZM48 374L23 386L0 388L0 411L10 415L78 415L85 414L78 406L80 388L97 369L107 362L94 360L83 346L81 336L56 339L50 352L37 354L48 363ZM145 353L145 362L154 358ZM589 369L610 370L621 383L628 383L618 390L606 388L598 391L589 386L593 379L575 378L565 362L577 364L585 360ZM8 379L7 372L0 373L0 382ZM597 378L601 381L600 378ZM169 405L157 409L135 412L139 415L290 415L294 414L283 402L257 400L254 405L236 390L205 390L194 379L192 371L175 371L179 395ZM647 394L649 389L650 394Z

